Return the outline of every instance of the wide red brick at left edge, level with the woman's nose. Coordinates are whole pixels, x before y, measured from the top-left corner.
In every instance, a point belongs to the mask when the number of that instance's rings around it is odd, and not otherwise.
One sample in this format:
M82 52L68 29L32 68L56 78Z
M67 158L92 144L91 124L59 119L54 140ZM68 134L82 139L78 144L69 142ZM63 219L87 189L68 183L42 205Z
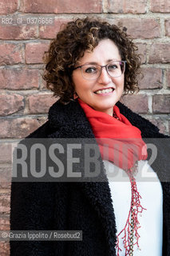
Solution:
M0 89L26 90L38 89L38 70L4 69L0 70Z

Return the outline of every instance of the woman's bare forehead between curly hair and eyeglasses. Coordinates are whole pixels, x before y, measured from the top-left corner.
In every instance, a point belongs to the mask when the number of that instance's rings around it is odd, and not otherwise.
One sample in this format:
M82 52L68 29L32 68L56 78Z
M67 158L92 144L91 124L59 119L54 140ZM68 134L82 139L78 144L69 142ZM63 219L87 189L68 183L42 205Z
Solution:
M121 60L121 54L112 40L102 39L93 51L85 50L85 54L79 59L79 62L107 62L110 59Z

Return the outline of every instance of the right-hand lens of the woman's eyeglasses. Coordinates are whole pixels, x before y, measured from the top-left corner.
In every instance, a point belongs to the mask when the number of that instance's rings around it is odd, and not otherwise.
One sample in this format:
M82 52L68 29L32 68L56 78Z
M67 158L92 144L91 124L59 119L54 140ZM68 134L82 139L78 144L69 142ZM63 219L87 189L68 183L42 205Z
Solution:
M125 72L125 62L112 62L107 65L108 73L111 77L117 78Z

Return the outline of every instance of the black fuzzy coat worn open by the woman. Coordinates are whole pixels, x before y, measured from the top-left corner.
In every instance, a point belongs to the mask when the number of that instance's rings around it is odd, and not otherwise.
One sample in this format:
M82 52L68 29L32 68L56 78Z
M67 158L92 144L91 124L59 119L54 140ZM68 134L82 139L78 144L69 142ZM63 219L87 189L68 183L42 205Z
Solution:
M143 138L166 138L140 115L117 103ZM89 121L77 101L56 102L49 120L28 138L94 138ZM166 138L167 141L167 138ZM164 194L163 255L170 255L170 186L168 146L158 144L152 164ZM101 161L101 175L105 169ZM81 164L83 169L83 163ZM11 230L82 230L82 241L11 242L11 256L113 256L116 223L108 182L12 182ZM147 235L147 234L146 234ZM149 238L148 238L149 239ZM154 255L151 255L154 256Z

